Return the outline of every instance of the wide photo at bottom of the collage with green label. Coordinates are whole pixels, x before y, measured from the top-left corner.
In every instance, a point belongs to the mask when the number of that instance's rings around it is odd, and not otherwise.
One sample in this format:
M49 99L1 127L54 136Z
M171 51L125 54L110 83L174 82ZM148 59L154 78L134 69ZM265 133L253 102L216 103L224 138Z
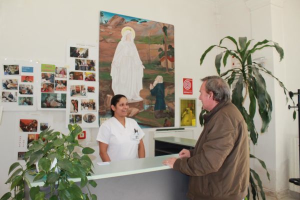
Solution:
M41 108L65 108L65 102L65 93L41 93L40 96Z

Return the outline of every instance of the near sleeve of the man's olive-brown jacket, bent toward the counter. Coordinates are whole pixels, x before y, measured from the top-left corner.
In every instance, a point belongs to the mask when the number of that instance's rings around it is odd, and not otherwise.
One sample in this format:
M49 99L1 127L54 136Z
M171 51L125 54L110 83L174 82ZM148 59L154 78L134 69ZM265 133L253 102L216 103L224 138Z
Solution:
M173 168L191 176L218 171L233 148L235 131L225 114L218 116L206 138L202 138L205 141L198 147L197 152L192 151L189 158L176 159Z

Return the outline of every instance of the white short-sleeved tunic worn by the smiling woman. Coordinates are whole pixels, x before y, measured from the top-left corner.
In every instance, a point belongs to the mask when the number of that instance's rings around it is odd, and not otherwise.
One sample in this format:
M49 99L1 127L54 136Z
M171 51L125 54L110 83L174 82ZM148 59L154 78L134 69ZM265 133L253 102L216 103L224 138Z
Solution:
M134 129L138 131L138 140L133 139ZM115 118L105 120L99 127L97 141L108 144L107 154L111 161L138 158L137 148L144 132L137 122L125 117L125 127Z

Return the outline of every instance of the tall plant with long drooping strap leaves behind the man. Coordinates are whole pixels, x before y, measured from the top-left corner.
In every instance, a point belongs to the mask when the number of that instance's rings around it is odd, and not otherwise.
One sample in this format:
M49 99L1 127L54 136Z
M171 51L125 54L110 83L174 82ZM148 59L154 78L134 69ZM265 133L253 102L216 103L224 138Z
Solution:
M231 42L233 42L235 49L229 49L221 45L224 39L229 39ZM216 71L219 74L219 76L221 76L224 80L228 82L230 87L231 86L233 87L231 101L233 104L236 105L236 107L243 115L248 126L249 136L252 143L257 144L258 133L256 131L255 124L253 122L253 117L256 112L256 106L258 106L258 112L262 120L260 132L266 131L268 124L271 120L271 112L272 112L272 100L269 93L267 92L266 84L261 72L270 75L271 77L275 78L278 81L279 85L283 88L283 92L286 96L286 101L288 100L288 96L287 96L288 90L285 88L283 83L278 78L276 78L269 70L267 70L260 63L256 63L252 61L252 53L254 53L256 50L265 47L274 47L278 52L281 61L284 55L283 49L278 45L278 43L267 39L255 43L252 47L250 47L250 44L251 44L251 40L247 40L246 37L238 37L238 43L237 43L237 41L233 37L226 36L220 40L218 45L211 45L204 51L204 53L200 58L200 65L202 64L206 54L213 47L219 47L221 49L224 49L224 51L220 52L215 56ZM231 68L223 73L220 73L221 62L225 66L227 63L228 56L235 57L236 59L238 59L238 61L240 62L240 67ZM248 109L244 107L244 102L246 98L249 99ZM203 125L203 117L202 117L203 113L205 113L205 110L202 110L200 113L201 125ZM294 116L295 116L295 111L294 111ZM255 158L260 162L261 166L266 170L266 175L267 178L269 179L269 173L266 169L265 163L262 160L256 158L252 154L250 154L250 158ZM260 195L262 199L265 199L260 177L251 168L250 168L249 182L250 182L253 199L255 199L256 196L257 198L259 198L257 185L260 188ZM249 189L248 189L247 198L249 198Z

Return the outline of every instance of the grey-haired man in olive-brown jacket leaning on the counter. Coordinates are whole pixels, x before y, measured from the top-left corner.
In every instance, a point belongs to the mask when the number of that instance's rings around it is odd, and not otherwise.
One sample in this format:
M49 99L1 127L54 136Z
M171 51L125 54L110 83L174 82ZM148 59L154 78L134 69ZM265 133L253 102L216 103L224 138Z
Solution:
M179 158L168 158L163 164L190 176L190 199L241 200L249 183L247 125L222 78L201 80L199 100L208 111L203 131L194 149L182 149Z

